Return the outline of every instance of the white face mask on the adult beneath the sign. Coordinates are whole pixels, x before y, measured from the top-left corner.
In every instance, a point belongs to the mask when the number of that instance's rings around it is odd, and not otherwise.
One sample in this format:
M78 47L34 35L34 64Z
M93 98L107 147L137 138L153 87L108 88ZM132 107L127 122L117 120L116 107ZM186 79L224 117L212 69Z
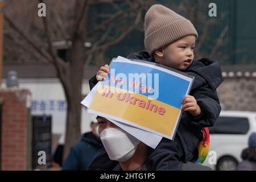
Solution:
M118 162L130 159L140 142L133 135L118 127L109 127L101 131L100 138L109 159Z

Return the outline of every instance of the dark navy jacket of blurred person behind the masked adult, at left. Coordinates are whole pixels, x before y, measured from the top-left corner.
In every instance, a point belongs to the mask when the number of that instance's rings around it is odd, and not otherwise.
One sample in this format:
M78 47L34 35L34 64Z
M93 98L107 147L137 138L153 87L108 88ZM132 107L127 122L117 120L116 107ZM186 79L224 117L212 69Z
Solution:
M85 133L80 142L71 147L62 170L84 171L102 147L101 140L94 137L92 132Z

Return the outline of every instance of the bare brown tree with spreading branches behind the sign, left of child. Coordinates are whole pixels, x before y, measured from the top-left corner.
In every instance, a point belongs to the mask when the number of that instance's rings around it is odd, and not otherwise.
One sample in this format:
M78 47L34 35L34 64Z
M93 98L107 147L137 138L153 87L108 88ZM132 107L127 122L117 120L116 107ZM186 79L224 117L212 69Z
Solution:
M46 4L46 17L38 17L38 3ZM98 5L113 7L113 11L98 13L104 19L92 22L89 11ZM142 23L142 10L147 8L146 1L128 0L22 0L9 1L5 7L7 35L26 50L24 55L53 64L63 85L68 104L64 158L81 135L81 85L88 56L119 43ZM110 36L113 29L117 31ZM53 46L60 40L69 43L68 61L57 56ZM85 42L92 42L92 47L86 48Z

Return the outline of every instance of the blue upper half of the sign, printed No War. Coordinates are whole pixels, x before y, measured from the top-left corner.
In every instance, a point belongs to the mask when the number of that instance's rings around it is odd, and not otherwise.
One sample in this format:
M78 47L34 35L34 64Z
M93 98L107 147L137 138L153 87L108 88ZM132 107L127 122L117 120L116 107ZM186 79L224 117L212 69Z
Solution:
M123 86L119 86L117 83L114 84L113 81L109 83L109 78L110 76L112 76L110 75L112 73L111 69L113 68L115 68L115 72L114 72L115 75L113 76L117 77L117 75L120 73L124 74L127 77L128 84L126 82ZM137 89L134 89L134 85L130 88L129 84L131 83L131 77L129 78L129 73L137 73L138 75L141 75L142 73L146 75L147 73L151 73L152 79L150 80L152 80L152 84L147 83L147 78L141 77L139 80L137 79L135 82L135 85L138 85L139 82L141 82L141 85L139 85ZM108 75L106 80L103 82L104 85L127 89L132 92L140 93L143 96L148 96L148 97L153 97L155 94L154 92L157 92L158 90L158 98L155 98L156 100L164 102L168 105L172 105L179 109L181 107L181 101L185 96L189 86L189 81L184 80L183 78L177 77L175 75L171 75L170 73L166 73L158 69L154 69L154 68L150 68L150 67L146 67L144 65L138 65L138 64L112 62L110 64L110 74ZM158 83L155 82L154 80L155 74L159 75L159 80L156 80ZM121 77L117 77L117 80ZM135 79L133 79L133 81L135 81ZM152 90L151 93L144 93L141 90L139 90L142 85L146 85L147 89L148 87L152 86L154 90ZM142 89L144 88L145 87L142 87Z

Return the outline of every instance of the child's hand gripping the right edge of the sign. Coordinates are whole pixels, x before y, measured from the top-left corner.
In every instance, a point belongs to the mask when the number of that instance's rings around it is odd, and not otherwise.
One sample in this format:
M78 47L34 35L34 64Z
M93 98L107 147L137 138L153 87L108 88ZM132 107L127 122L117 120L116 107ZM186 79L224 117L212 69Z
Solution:
M181 110L189 111L189 113L194 117L197 117L201 114L201 109L199 105L197 105L195 97L187 95L183 98L181 104Z

